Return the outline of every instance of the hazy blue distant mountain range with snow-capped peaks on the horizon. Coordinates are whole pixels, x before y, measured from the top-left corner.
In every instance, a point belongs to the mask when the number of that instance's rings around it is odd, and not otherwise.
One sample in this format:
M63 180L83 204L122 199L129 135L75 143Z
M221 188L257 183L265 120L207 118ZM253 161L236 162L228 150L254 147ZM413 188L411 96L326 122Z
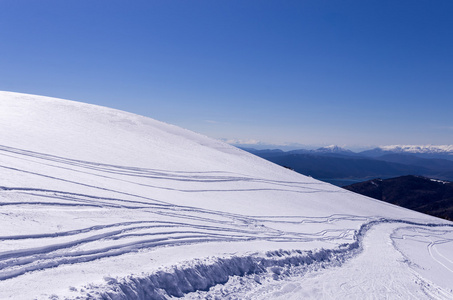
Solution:
M383 146L359 153L338 146L292 151L243 149L338 186L403 175L453 181L453 146Z

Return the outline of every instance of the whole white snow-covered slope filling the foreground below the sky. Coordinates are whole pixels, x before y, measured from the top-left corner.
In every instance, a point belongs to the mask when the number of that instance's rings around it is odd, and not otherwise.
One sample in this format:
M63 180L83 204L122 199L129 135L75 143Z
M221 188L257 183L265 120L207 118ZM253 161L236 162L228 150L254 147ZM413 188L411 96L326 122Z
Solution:
M0 299L453 298L452 222L147 117L0 92L0 169Z

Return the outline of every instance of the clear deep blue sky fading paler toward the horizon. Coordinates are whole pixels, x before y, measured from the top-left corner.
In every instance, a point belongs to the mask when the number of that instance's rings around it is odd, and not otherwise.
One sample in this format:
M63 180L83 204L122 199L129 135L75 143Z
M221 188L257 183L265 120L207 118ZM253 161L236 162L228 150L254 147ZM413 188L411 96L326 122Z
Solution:
M453 1L0 0L0 90L269 144L453 144Z

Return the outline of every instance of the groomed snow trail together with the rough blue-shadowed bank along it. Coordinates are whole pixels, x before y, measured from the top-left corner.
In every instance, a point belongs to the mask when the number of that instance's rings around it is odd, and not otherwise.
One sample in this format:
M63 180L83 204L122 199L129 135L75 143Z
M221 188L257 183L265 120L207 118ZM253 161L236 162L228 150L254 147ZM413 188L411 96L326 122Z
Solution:
M147 277L91 287L95 299L451 299L411 269L393 233L424 230L453 234L453 225L377 220L364 224L355 242L318 251L274 251L173 267ZM450 239L449 242L453 242ZM446 240L443 240L446 243ZM444 270L445 271L445 270ZM447 271L448 270L447 268ZM447 274L448 275L448 274ZM209 290L208 290L209 289ZM93 293L94 291L94 293ZM91 294L90 294L91 292Z

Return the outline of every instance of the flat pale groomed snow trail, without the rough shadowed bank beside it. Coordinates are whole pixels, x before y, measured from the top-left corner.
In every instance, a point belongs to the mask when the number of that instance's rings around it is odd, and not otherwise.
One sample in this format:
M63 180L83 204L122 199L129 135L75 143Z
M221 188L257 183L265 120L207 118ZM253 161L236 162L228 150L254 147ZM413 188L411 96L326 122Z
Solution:
M451 227L404 226L433 232ZM217 286L209 292L189 294L187 299L452 299L450 284L439 286L426 279L416 269L414 261L395 248L392 232L398 222L377 223L366 233L362 251L357 251L343 264L328 263L321 267L293 267L292 276L277 280L265 277L259 284L244 280L242 285ZM450 240L453 242L453 240ZM423 249L417 249L423 252ZM429 262L428 264L432 264ZM264 284L264 280L267 282ZM233 281L233 280L232 280Z

